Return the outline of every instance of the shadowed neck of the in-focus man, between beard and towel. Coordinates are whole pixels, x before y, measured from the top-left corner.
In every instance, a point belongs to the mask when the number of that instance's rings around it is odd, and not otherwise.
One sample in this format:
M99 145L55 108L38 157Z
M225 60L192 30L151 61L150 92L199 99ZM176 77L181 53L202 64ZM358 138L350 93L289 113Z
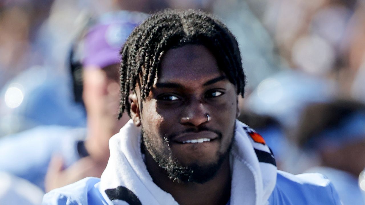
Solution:
M200 184L173 182L166 171L153 160L149 152L146 151L145 153L147 170L153 182L165 192L170 193L180 205L226 205L230 199L231 173L228 156L224 159L215 177Z

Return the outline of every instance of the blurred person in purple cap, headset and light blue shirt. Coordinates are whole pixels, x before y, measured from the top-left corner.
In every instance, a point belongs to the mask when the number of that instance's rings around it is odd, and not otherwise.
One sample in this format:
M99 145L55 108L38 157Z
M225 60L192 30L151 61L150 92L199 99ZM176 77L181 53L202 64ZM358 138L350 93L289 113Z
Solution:
M118 121L120 45L146 17L140 12L107 13L85 29L70 62L82 67L71 69L74 84L83 87L75 99L82 98L87 127L43 126L4 137L1 171L46 192L87 176L100 177L109 157L109 138L128 120L125 116Z

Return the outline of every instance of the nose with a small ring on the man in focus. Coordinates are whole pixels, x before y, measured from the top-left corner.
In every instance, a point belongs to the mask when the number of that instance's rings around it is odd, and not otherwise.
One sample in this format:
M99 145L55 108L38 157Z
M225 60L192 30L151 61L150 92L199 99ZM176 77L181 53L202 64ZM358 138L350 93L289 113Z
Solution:
M207 123L209 120L210 116L207 112L206 105L203 102L195 101L191 102L190 105L185 108L180 123L197 127Z

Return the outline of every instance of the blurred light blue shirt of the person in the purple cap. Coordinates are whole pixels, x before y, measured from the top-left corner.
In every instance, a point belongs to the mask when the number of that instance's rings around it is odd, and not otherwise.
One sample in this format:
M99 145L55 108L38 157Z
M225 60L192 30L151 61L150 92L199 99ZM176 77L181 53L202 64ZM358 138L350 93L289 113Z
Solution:
M0 171L27 179L44 190L44 179L52 156L63 156L65 167L69 167L80 159L77 144L85 136L85 128L51 125L1 138Z

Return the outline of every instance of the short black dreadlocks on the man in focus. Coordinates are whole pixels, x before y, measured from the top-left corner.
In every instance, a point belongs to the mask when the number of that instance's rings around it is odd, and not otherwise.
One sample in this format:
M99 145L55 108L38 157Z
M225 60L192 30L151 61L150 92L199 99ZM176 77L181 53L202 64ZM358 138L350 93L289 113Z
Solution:
M141 100L148 97L157 78L158 65L163 54L172 48L188 44L207 47L215 56L220 70L243 97L246 84L241 53L235 37L219 20L196 10L165 10L157 12L136 27L121 51L120 110L130 116L128 95L135 89L137 79Z

